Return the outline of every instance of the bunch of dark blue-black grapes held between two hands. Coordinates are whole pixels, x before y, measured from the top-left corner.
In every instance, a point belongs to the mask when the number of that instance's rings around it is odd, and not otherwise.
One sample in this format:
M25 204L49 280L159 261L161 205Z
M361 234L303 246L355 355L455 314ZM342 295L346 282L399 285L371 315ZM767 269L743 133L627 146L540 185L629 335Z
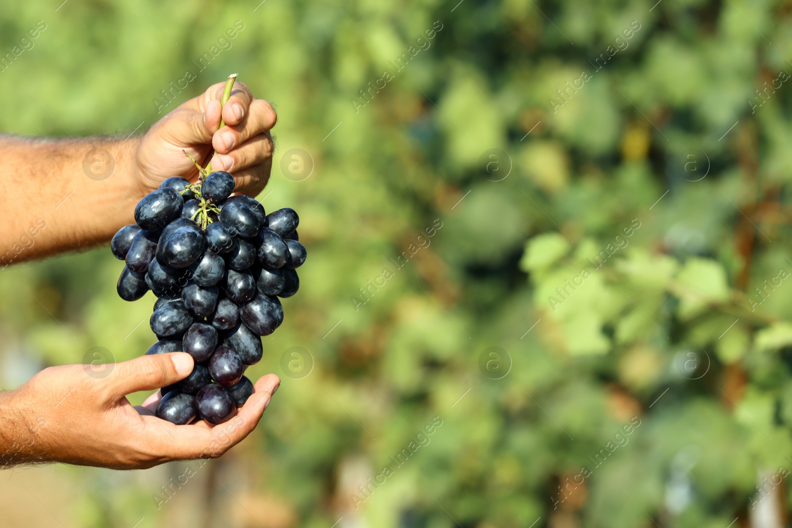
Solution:
M222 424L253 393L242 375L263 354L261 337L284 321L278 297L299 288L295 268L306 249L299 217L284 208L267 215L249 196L230 196L234 177L216 171L198 184L171 177L135 207L135 224L110 243L126 265L118 294L158 297L147 354L185 351L195 359L187 378L163 387L157 416L189 424L200 416Z

